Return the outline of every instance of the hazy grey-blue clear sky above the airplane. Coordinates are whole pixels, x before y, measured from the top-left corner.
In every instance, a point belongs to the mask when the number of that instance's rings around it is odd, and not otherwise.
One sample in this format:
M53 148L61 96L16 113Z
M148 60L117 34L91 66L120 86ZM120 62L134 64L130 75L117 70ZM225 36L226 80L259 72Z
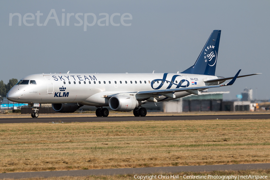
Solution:
M218 29L215 75L262 74L209 91L230 91L224 99L232 100L251 88L254 99L269 99L269 9L270 1L1 1L0 80L68 71L182 72Z

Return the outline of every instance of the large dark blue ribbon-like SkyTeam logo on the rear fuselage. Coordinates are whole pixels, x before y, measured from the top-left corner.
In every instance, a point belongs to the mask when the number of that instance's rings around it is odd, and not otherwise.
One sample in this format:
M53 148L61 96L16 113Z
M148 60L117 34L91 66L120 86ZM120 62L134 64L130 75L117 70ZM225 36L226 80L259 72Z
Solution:
M176 77L178 77L180 75L174 75L171 80L166 80L167 75L168 75L168 73L164 73L162 79L152 80L151 87L153 89L160 89L163 85L168 85L168 87L166 89L170 89L172 87L172 85L176 85L176 88L179 88L179 87L185 88L185 87L188 87L190 85L189 81L186 79L182 79L178 83L178 81L176 81ZM180 77L183 78L183 76L180 76ZM160 84L158 85L158 87L154 88L155 83L160 83Z

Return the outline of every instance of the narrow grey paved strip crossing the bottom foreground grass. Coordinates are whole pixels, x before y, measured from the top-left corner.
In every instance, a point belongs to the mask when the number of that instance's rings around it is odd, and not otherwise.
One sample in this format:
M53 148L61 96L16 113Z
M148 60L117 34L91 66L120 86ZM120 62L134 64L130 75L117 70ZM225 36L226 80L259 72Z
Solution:
M89 175L123 175L123 174L148 174L153 173L179 173L179 172L209 172L225 170L267 170L270 163L264 164L225 164L208 166L174 166L174 167L143 167L143 168L122 168L122 169L102 169L102 170L71 170L71 171L41 171L24 173L1 173L0 179L4 178L33 178L33 177L60 177L60 176L89 176Z

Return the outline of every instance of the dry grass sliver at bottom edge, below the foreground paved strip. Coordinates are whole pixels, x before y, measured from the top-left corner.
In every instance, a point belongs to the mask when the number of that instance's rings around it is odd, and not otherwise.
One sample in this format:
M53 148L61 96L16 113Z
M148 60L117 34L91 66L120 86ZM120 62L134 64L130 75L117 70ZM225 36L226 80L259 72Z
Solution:
M239 179L243 179L241 178L241 176L246 176L246 175L253 175L253 176L267 176L268 178L270 177L270 170L245 170L245 171L212 171L212 172L200 172L200 173L192 173L192 172L182 172L182 173L155 173L155 174L143 174L140 176L147 176L147 175L154 175L154 176L169 176L171 177L171 175L176 176L179 175L179 179L181 180L185 180L183 178L184 175L187 176L206 176L208 177L208 175L212 175L212 176L238 176L239 175ZM182 177L180 177L182 176ZM136 176L137 177L137 176ZM160 176L161 177L161 176ZM114 176L79 176L79 177L71 177L71 176L64 176L64 177L50 177L50 178L27 178L27 180L131 180L134 179L134 175L128 174L128 175L114 175ZM158 179L158 178L157 178ZM164 178L160 178L163 180L168 180L168 178L164 179ZM169 179L173 179L173 178L169 178ZM195 179L195 178L194 178ZM199 179L199 178L198 178ZM212 179L212 178L209 178ZM226 179L226 178L224 178ZM238 179L238 177L237 177ZM13 180L13 179L5 179L5 180ZM26 180L25 178L21 179L21 180ZM149 180L149 179L147 179ZM203 179L205 180L205 179ZM219 179L220 180L220 179ZM246 180L246 179L245 179Z

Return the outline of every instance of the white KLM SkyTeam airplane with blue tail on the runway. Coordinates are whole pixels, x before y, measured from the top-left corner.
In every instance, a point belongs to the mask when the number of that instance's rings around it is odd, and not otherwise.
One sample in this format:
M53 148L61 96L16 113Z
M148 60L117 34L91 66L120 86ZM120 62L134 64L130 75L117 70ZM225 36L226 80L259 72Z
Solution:
M187 95L200 95L208 88L232 85L233 77L215 76L221 30L214 30L195 64L179 73L55 73L33 74L22 78L7 93L9 101L28 103L29 107L52 104L60 113L72 113L83 105L97 107L96 116L114 111L133 111L146 116L148 102L163 102ZM230 82L221 85L226 80ZM38 109L31 114L38 117Z

